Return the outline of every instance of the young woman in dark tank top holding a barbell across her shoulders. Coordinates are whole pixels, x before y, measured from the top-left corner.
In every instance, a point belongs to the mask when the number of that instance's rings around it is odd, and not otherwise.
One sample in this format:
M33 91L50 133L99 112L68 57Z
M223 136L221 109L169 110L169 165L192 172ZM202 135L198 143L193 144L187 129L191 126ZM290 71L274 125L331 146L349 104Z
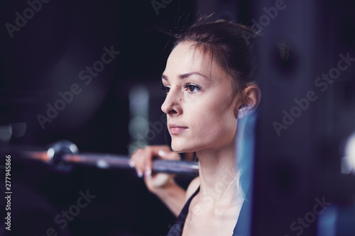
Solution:
M168 57L161 109L167 114L173 152L151 146L131 157L148 189L175 215L181 211L168 235L243 235L236 130L238 120L261 99L253 82L250 35L249 28L229 21L199 21L177 36ZM151 173L153 156L178 159L179 152L196 152L199 160L199 177L186 192L172 176Z

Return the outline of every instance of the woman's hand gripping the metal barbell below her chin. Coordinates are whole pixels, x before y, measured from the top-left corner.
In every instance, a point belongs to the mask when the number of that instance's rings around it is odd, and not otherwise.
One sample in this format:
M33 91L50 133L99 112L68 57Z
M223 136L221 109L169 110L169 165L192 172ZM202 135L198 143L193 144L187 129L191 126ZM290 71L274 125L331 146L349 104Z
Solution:
M131 155L131 165L136 167L138 176L144 176L146 186L152 193L158 194L167 185L175 184L173 174L152 174L153 159L178 160L180 155L170 150L168 146L147 146L138 148Z

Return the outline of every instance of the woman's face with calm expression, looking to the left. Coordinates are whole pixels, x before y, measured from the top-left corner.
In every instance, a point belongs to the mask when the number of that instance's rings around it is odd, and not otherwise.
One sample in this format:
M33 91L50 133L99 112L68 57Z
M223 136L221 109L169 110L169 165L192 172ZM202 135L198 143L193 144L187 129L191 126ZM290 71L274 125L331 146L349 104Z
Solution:
M239 100L231 77L188 42L171 52L162 75L167 114L175 152L217 150L234 144Z

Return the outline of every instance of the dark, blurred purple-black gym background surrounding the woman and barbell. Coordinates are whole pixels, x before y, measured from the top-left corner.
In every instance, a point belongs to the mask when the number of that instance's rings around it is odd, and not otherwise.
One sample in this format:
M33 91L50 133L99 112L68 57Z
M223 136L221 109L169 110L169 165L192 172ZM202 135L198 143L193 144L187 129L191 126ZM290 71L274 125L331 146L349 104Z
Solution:
M151 122L163 114L165 95L159 83L170 41L153 29L179 33L197 15L209 13L252 26L252 19L265 14L263 7L275 6L275 1L262 0L158 2L165 7L157 14L152 1L51 0L11 38L6 23L15 25L15 13L23 16L29 6L26 1L1 1L0 126L6 133L11 124L13 134L1 136L0 142L45 146L65 139L81 152L128 154L131 89L139 84L148 89ZM290 223L312 209L316 197L351 206L355 195L354 179L339 174L344 140L355 130L354 65L318 94L281 137L271 125L282 120L283 110L295 106L294 99L315 90L315 79L337 65L340 53L355 57L354 1L285 3L287 7L264 27L258 46L263 101L256 130L253 235L295 235ZM290 57L280 56L280 40L288 41ZM111 45L120 54L84 84L79 73ZM36 116L45 116L46 104L53 105L60 99L58 92L69 91L72 84L79 84L81 93L42 129ZM16 133L18 123L25 123L26 131ZM165 132L149 140L164 143L169 144ZM13 235L45 235L48 227L58 235L166 235L175 219L131 172L77 167L65 174L13 164L11 174ZM178 181L186 186L189 178ZM60 230L55 215L75 204L79 191L87 189L96 198ZM316 226L310 225L303 235L315 235Z

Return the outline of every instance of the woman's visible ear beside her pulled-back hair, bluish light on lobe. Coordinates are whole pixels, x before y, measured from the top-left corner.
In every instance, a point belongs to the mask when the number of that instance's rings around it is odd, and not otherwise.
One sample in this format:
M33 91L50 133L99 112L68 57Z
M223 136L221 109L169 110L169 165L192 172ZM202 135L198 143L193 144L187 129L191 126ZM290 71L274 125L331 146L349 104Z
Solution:
M238 110L238 119L250 116L256 108L258 108L258 104L261 100L261 91L259 87L254 84L246 87L243 91L242 99L243 103Z

